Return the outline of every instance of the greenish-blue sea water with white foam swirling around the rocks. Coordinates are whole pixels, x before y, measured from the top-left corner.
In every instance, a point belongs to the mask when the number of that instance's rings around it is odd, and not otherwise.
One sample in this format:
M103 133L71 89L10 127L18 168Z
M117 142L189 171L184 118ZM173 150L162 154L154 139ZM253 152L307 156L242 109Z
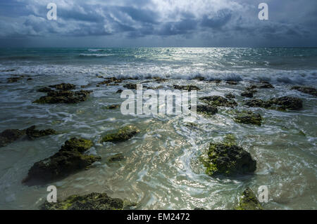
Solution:
M58 199L73 194L106 192L111 197L138 202L137 209L232 209L246 187L256 192L266 185L269 202L265 209L316 209L316 97L290 91L294 84L314 86L317 77L315 48L138 48L138 49L2 49L0 53L0 131L55 129L58 135L34 141L20 140L0 148L0 208L38 209L46 199L46 186L58 187ZM12 72L4 72L11 70ZM11 74L26 78L7 84ZM292 95L304 100L299 111L280 112L249 108L263 117L262 126L237 124L230 108L219 108L211 117L199 115L189 128L183 115L125 116L107 105L123 102L120 86L99 86L104 77L138 77L125 83L142 83L149 77L167 77L146 86L194 84L198 96L233 93L242 106L240 93L250 81L271 81L274 89L260 89L256 98ZM207 79L241 80L237 86ZM151 81L151 80L149 80ZM68 82L89 86L89 99L75 105L36 105L44 93L37 88ZM173 89L173 88L172 88ZM244 108L245 109L245 108ZM141 130L124 143L99 144L107 131L124 124ZM211 140L232 133L237 143L257 161L254 175L211 178L204 174L198 157ZM32 164L51 156L72 137L89 138L89 153L102 157L100 163L44 186L27 187L21 180ZM125 161L108 164L122 152Z

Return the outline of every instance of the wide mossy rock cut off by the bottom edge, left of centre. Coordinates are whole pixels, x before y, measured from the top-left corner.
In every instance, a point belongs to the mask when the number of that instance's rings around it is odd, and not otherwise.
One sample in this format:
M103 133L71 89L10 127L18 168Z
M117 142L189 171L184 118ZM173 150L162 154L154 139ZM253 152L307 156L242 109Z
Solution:
M72 195L62 202L49 203L42 205L42 210L122 210L123 200L111 198L100 193L89 195Z

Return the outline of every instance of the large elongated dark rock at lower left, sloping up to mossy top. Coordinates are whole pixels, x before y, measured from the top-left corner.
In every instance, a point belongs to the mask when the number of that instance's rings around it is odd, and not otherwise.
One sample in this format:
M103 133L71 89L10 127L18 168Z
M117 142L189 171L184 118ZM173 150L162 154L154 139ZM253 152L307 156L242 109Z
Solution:
M23 183L47 183L68 176L70 173L87 169L101 157L83 154L92 147L92 141L83 138L71 138L61 146L61 150L49 158L36 162Z

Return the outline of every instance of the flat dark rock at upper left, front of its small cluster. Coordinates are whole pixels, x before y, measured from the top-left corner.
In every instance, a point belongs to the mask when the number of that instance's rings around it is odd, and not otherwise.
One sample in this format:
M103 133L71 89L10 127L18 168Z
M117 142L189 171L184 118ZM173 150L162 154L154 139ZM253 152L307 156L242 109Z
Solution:
M80 103L87 100L92 91L50 91L33 103Z

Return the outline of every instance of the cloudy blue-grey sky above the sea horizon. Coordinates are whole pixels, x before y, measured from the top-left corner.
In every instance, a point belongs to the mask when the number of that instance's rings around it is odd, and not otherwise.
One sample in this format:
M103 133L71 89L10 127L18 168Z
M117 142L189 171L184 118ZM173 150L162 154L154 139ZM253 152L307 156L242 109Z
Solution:
M0 0L0 47L316 47L316 22L316 0Z

